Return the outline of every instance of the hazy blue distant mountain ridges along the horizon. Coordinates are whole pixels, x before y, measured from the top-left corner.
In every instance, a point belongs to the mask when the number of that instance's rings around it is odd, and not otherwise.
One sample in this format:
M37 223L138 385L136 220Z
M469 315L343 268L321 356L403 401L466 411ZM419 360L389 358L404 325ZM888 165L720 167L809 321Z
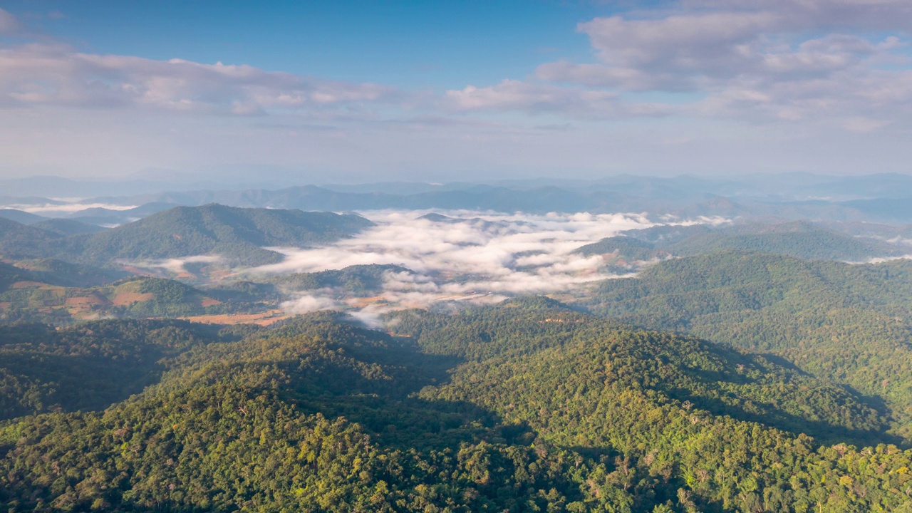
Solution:
M2 184L0 181L0 186ZM211 187L212 183L206 185ZM241 189L229 185L223 189L194 190L175 184L171 191L161 192L163 186L150 184L144 188L150 192L142 194L135 194L137 189L130 186L124 189L125 193L129 191L125 195L105 194L75 204L47 197L0 196L0 205L12 208L26 208L27 204L57 205L60 208L56 215L96 225L129 223L175 205L211 203L332 212L436 208L533 214L637 212L679 218L706 215L912 223L912 193L909 192L912 191L912 176L895 173L866 176L778 173L733 177L618 175L597 180L308 184L275 189ZM10 189L17 190L16 187ZM96 192L105 190L110 189L96 189ZM50 189L43 194L52 195L48 191ZM71 212L74 205L78 207L79 204L85 204L86 208ZM130 208L120 210L98 205Z

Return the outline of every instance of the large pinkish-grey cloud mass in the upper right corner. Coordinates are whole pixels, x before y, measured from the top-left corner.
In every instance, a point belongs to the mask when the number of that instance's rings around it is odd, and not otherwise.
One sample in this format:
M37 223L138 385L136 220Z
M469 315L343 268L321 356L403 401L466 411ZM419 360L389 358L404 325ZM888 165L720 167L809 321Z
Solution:
M910 23L912 5L905 1L689 1L659 16L581 23L577 30L589 37L597 62L544 63L535 77L702 97L680 113L838 118L835 124L847 131L874 131L904 119L912 107L902 53Z

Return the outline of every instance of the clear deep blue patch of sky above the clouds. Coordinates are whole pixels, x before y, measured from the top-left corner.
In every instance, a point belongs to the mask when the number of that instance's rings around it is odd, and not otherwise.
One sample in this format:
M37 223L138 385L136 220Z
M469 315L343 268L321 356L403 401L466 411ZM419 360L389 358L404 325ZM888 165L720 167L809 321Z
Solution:
M544 58L586 58L578 22L608 9L560 2L34 2L81 49L231 61L407 88L457 88L530 73ZM15 8L15 10L14 10ZM37 17L37 16L36 16ZM507 23L504 23L504 22Z

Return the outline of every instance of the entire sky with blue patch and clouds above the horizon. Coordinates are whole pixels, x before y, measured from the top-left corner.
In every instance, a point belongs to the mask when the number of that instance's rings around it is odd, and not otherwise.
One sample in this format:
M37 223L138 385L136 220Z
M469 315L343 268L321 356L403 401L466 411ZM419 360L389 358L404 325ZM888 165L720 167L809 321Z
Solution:
M908 173L908 0L0 1L0 178Z

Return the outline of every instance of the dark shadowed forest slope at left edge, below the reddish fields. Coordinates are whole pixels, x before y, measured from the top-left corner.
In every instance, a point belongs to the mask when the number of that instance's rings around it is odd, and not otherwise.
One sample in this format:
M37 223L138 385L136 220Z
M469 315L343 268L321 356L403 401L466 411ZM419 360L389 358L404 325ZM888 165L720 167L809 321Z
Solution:
M66 330L0 326L0 420L100 410L158 380L162 359L218 340L183 321L104 320Z

